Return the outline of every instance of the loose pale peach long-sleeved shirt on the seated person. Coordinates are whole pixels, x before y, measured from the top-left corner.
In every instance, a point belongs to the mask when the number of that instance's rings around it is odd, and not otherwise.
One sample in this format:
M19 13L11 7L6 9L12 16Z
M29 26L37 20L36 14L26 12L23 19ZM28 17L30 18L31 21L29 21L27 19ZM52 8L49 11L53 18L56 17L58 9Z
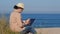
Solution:
M20 32L22 30L24 30L25 28L20 28L21 26L23 26L22 23L22 17L21 17L21 13L18 13L17 11L14 11L11 13L10 15L10 29L14 32Z

